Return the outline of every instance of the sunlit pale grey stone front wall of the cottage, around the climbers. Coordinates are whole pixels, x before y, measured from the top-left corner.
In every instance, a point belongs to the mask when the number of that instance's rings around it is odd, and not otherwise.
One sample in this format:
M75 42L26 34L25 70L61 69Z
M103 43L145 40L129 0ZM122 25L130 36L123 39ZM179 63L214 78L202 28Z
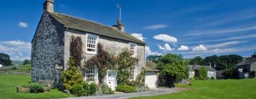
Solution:
M93 33L90 33L93 34ZM90 59L90 57L94 56L95 54L87 54L85 52L86 50L86 33L78 30L66 30L65 31L65 69L68 69L68 59L70 57L69 47L70 47L70 40L71 36L79 36L82 38L82 57L84 57L84 61L87 59ZM96 35L96 34L94 34ZM99 36L99 42L103 45L104 49L108 52L118 55L120 52L122 52L125 49L128 49L129 47L129 41L127 40L120 40L113 37L106 37L104 35L98 35ZM139 58L139 62L137 65L137 75L140 74L142 67L145 67L145 46L142 44L137 43L137 57Z

